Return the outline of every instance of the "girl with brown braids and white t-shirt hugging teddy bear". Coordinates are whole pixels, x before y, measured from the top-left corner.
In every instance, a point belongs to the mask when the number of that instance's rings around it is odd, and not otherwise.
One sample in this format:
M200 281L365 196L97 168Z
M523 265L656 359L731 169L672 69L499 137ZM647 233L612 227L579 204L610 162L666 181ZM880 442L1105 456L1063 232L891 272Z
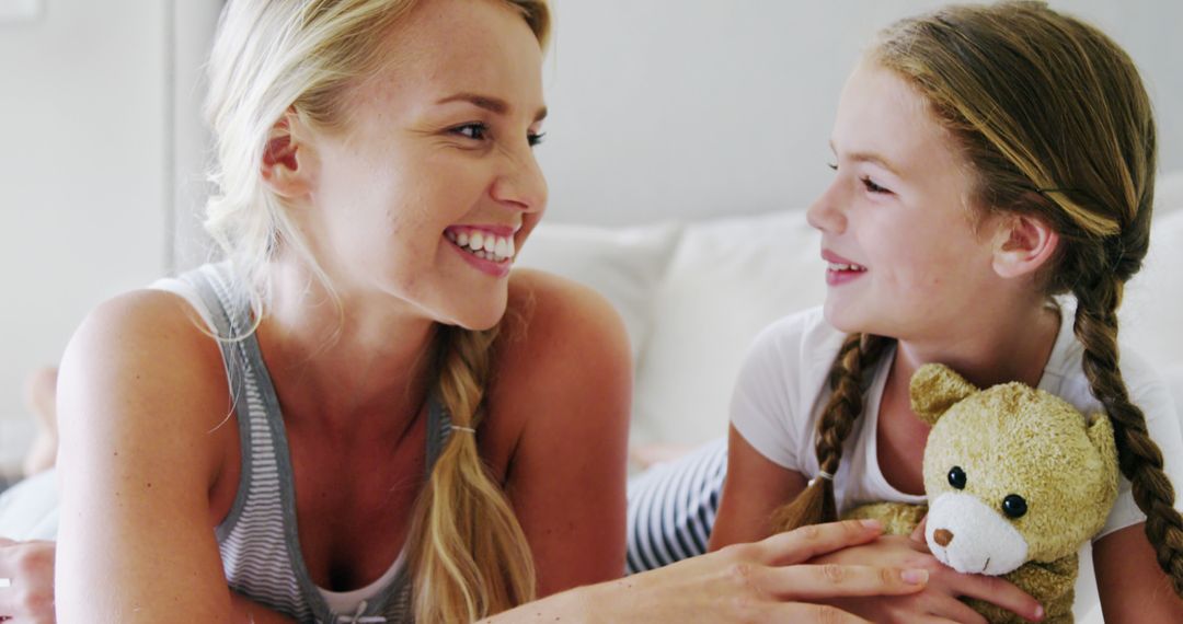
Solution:
M922 502L929 428L907 388L940 362L978 386L1019 381L1108 414L1125 479L1092 548L1105 620L1183 622L1177 416L1117 342L1155 180L1153 117L1130 58L1036 2L904 20L849 77L832 148L834 182L808 212L826 304L751 350L711 547L865 501ZM884 539L826 560L919 565L918 550ZM955 577L839 604L875 622L978 622L957 600L969 594L1041 616L1001 580Z

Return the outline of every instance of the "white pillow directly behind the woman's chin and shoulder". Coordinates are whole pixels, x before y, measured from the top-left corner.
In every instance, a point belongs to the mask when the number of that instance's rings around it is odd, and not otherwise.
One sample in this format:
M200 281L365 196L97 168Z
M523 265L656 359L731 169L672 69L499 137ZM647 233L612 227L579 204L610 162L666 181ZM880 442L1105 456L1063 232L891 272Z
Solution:
M673 223L626 228L542 223L515 265L548 271L603 294L625 321L635 362L648 334L651 294L680 228Z

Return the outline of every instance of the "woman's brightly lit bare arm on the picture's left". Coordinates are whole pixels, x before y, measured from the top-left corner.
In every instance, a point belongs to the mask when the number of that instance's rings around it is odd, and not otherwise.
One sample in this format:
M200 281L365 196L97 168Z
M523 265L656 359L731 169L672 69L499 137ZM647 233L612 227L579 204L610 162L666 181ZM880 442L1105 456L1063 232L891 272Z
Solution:
M234 620L209 492L237 429L218 345L187 311L167 293L131 293L91 313L66 349L64 623Z

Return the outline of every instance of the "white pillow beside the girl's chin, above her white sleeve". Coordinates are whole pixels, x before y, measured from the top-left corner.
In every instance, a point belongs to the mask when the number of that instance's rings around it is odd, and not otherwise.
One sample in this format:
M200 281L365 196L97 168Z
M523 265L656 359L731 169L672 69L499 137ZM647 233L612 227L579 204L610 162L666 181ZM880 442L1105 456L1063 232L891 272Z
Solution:
M693 222L653 293L633 443L697 444L728 430L739 365L777 318L821 304L820 234L801 210Z

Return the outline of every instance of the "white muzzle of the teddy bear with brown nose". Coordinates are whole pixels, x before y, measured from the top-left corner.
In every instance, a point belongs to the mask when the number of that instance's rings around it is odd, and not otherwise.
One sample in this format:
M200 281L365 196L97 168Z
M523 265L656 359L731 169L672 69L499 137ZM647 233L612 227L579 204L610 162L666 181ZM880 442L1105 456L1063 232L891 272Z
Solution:
M932 501L924 537L940 563L962 573L1006 574L1027 560L1027 540L1010 520L961 492Z

